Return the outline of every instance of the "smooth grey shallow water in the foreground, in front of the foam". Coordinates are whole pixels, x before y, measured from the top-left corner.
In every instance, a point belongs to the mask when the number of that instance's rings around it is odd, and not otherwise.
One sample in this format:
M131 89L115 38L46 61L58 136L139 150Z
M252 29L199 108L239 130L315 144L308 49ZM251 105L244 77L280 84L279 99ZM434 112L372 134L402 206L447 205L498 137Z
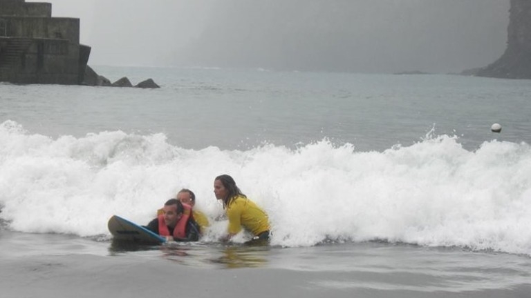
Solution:
M7 289L8 297L35 292L40 297L59 292L142 297L139 292L171 290L175 285L168 285L167 273L194 297L247 291L255 297L289 292L309 297L525 297L531 288L529 257L460 248L381 242L306 248L117 247L110 240L6 231L0 239L0 288ZM103 286L91 288L96 284Z

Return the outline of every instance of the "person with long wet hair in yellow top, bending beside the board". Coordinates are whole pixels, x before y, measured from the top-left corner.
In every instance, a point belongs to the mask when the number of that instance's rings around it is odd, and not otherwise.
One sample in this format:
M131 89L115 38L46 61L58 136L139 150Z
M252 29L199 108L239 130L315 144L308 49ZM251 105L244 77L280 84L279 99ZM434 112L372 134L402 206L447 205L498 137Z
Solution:
M242 228L252 232L254 237L249 244L261 243L269 239L270 225L268 215L253 201L243 195L236 182L229 175L220 175L214 179L216 199L223 201L229 219L228 235L223 241L241 231Z

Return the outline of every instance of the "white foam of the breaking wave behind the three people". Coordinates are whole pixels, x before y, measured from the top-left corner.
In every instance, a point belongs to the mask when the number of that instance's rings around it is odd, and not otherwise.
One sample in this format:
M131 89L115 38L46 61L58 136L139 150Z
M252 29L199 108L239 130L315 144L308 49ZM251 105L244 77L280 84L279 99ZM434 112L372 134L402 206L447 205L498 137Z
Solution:
M326 139L295 150L185 150L162 134L52 139L14 121L0 125L0 142L0 218L21 232L108 235L111 215L147 224L183 187L215 218L223 208L212 183L226 173L268 212L272 244L379 239L531 255L527 143L469 151L443 135L384 152Z

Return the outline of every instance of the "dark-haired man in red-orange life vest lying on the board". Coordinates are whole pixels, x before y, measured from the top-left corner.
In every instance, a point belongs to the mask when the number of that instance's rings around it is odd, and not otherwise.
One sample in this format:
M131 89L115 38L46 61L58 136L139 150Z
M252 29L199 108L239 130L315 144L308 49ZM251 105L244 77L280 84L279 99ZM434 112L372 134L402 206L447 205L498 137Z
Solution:
M162 210L162 215L150 221L145 228L165 236L168 241L198 241L201 230L192 215L192 207L178 199L169 199Z

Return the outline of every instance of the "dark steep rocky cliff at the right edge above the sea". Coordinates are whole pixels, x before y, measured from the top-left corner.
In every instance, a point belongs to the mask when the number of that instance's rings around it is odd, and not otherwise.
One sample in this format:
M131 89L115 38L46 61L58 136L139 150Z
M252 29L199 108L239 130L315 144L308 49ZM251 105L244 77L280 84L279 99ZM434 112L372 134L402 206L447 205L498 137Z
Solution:
M511 0L507 49L479 77L531 79L531 0Z

